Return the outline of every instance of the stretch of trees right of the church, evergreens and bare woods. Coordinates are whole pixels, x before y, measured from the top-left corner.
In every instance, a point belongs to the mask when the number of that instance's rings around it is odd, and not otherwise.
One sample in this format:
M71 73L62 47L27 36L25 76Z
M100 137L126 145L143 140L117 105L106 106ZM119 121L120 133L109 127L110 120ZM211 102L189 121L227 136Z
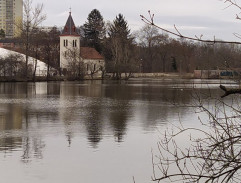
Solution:
M241 47L237 44L202 43L175 39L151 25L131 31L124 15L105 23L94 9L80 26L83 46L94 47L106 60L106 71L121 73L180 72L240 67Z

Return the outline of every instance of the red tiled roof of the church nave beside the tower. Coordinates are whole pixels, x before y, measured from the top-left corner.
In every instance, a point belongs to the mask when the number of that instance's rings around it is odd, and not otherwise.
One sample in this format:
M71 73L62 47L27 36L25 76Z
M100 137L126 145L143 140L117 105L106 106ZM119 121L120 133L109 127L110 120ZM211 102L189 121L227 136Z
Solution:
M104 59L96 49L90 47L80 47L80 56L83 59Z

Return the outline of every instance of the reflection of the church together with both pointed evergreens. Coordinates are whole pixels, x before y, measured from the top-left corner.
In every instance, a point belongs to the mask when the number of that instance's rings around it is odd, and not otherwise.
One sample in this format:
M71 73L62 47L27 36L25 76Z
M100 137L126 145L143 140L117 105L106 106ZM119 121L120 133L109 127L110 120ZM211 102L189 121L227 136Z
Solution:
M82 122L87 130L87 139L91 143L92 147L97 147L97 144L102 139L102 133L104 125L106 125L104 119L109 121L114 135L121 141L126 130L126 122L129 113L129 102L125 100L118 104L105 103L103 99L105 96L109 96L113 99L128 98L128 93L125 92L125 88L122 85L114 85L115 87L105 88L102 85L102 81L84 81L80 85L76 83L62 85L60 89L60 103L61 106L65 106L60 110L60 118L66 124L67 139L71 142L71 130L68 130L70 126L73 126L75 122ZM125 96L123 96L125 95ZM90 97L86 101L79 96ZM84 100L83 103L75 103L70 105L73 99ZM92 100L93 99L93 100ZM83 106L82 106L83 105ZM114 110L112 110L114 108ZM111 111L109 111L111 110Z

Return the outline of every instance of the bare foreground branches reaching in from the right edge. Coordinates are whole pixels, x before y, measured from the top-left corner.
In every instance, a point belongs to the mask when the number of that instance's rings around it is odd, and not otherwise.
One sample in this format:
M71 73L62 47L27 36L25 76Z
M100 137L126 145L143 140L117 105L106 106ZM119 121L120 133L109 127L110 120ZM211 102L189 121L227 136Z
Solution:
M228 7L241 7L234 0L225 0ZM181 39L199 41L204 43L231 43L216 40L204 40L202 37L188 37L182 35L176 26L176 32L164 29L154 23L154 15L149 11L149 18L141 16L148 25L157 27ZM237 19L240 17L237 15ZM236 34L237 36L238 34ZM228 89L220 85L225 91L222 98L230 94L240 94L241 89ZM158 143L158 154L153 156L153 181L155 182L241 182L241 106L240 97L233 95L232 103L221 99L208 97L208 102L213 101L209 107L205 100L196 98L194 107L196 113L205 113L208 118L203 120L201 128L184 127L182 124L174 130L167 130L163 139ZM190 146L181 147L179 139L189 134ZM195 136L198 134L198 136Z

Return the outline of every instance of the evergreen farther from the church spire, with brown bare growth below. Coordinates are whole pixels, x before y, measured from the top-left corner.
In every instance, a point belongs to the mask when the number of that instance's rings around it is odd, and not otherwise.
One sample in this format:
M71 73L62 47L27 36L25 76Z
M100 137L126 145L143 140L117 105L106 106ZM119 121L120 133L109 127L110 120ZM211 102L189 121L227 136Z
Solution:
M112 72L116 79L121 79L122 73L125 73L126 79L129 78L138 65L135 49L128 23L124 16L119 14L108 29L105 44L107 71Z

